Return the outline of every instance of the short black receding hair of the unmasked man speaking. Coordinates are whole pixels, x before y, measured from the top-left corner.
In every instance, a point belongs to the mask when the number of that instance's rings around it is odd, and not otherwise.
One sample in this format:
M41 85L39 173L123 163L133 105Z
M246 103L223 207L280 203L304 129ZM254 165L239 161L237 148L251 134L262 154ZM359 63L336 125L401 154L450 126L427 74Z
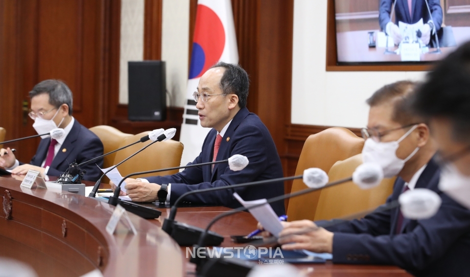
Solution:
M228 64L224 62L218 62L211 67L213 68L224 68L224 74L220 79L220 89L224 94L234 93L238 96L238 106L240 108L246 107L246 101L248 98L248 90L250 89L250 78L245 69L242 69L240 65Z

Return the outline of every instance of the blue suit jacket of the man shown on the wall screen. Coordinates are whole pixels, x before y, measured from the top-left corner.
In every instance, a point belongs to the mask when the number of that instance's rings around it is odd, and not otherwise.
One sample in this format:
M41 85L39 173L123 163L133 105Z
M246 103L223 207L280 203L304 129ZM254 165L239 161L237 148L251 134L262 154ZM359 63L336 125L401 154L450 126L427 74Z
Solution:
M385 26L390 22L390 11L392 10L394 0L380 0L379 6L379 15L378 21L380 23L380 28L385 30ZM423 19L423 23L427 23L430 20L429 12L426 7L425 0L413 0L412 1L412 17L410 17L410 12L408 9L408 0L397 0L395 6L395 24L398 25L398 22L413 24ZM441 29L442 25L442 8L440 0L427 0L429 3L429 10L432 14L432 20L436 25L436 31ZM438 32L439 39L442 35L441 32ZM431 36L431 41L434 39ZM433 45L431 45L433 46Z

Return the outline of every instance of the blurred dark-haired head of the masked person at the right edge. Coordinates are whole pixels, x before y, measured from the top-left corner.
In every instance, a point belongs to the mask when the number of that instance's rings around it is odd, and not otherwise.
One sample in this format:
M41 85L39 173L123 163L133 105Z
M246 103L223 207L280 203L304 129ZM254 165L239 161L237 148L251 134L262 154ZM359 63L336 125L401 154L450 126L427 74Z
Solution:
M439 188L470 209L470 42L429 72L413 100L439 144Z

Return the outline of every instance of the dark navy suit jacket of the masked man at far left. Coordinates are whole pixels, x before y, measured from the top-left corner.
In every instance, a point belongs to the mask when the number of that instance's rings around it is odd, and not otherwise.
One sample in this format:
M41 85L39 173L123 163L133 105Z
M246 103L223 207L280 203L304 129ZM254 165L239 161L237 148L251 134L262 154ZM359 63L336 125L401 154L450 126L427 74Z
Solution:
M36 155L31 159L30 164L41 166L46 159L49 144L50 138L41 139ZM66 149L66 152L63 152L62 149ZM85 162L101 155L103 155L103 143L101 143L101 140L96 137L92 131L82 126L78 123L77 119L75 119L69 135L67 135L67 138L65 138L59 152L57 152L54 160L52 160L49 170L47 171L47 175L60 176L67 170L67 168L69 168L70 163ZM82 169L87 170L83 180L98 180L102 172L96 164L99 167L103 167L103 159L85 164L81 167Z

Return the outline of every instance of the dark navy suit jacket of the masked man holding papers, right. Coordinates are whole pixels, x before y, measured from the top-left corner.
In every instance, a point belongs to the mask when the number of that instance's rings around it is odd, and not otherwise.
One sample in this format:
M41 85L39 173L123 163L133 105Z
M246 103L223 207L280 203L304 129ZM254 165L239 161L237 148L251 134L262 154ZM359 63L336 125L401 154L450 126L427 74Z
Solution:
M469 276L470 210L438 189L439 175L431 160L415 187L437 192L441 208L429 219L404 219L400 234L395 234L399 208L327 227L334 232L333 262L394 264L416 276ZM398 199L403 185L397 178L387 202Z

